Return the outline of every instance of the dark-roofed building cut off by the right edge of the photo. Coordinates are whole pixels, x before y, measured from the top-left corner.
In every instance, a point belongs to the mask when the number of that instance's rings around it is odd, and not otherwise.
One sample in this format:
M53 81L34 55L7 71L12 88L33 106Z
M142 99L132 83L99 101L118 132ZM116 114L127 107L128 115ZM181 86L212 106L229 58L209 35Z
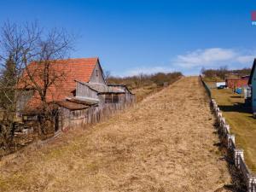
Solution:
M256 113L256 59L253 61L253 67L250 74L250 78L248 80L248 85L251 87L251 102L252 102L252 109L253 113Z

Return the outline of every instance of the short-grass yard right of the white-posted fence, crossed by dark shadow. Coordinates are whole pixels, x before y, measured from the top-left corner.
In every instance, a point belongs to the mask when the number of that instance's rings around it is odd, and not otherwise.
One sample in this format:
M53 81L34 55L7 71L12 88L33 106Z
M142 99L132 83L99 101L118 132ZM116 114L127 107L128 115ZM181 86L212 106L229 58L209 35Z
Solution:
M236 135L236 144L244 149L245 160L249 168L256 172L256 120L250 106L244 105L244 98L230 89L212 89L212 97L224 113L230 131Z

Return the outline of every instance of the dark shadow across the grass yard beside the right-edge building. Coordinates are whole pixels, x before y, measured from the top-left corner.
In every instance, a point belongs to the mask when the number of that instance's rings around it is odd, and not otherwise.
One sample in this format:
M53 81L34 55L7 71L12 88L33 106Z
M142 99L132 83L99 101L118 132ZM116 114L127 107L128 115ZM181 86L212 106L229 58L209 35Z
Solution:
M252 113L251 107L243 102L236 102L234 105L219 105L218 108L223 112Z

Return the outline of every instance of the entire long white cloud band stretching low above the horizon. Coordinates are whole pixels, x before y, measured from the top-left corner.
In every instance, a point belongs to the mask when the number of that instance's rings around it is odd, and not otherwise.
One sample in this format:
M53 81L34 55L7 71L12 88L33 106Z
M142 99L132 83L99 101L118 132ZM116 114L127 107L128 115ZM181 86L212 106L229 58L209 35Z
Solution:
M153 67L135 67L120 74L120 76L133 76L140 73L170 73L182 72L187 75L195 75L200 73L201 67L218 68L227 66L230 69L251 67L253 59L256 57L256 49L224 49L224 48L210 48L210 49L196 49L189 51L183 55L177 55L172 58L171 65L154 65Z

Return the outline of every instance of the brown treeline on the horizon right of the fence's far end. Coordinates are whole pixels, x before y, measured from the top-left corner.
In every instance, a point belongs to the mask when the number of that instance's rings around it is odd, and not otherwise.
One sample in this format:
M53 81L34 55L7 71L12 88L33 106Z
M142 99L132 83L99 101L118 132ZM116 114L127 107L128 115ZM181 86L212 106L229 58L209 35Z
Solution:
M201 69L201 74L204 75L205 79L211 80L224 80L228 76L233 76L236 78L241 78L241 76L249 75L251 73L251 68L242 68L229 70L228 67L219 67L218 69Z

